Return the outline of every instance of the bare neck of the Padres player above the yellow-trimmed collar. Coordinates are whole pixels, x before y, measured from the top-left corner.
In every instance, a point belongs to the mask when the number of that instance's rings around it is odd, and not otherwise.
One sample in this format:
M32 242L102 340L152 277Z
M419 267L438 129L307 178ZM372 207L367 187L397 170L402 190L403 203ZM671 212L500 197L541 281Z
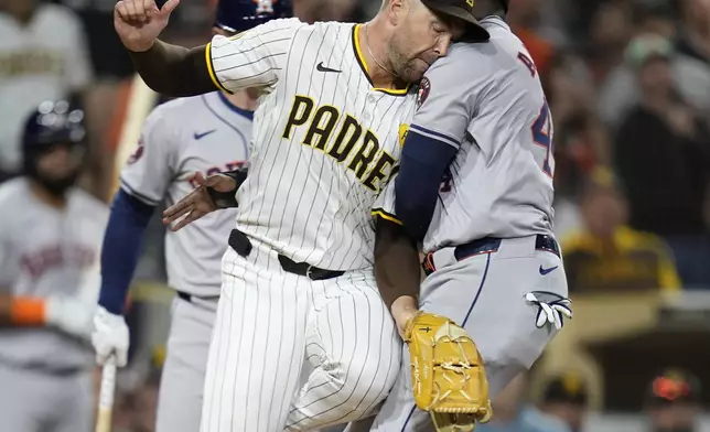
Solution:
M404 88L407 86L399 78L387 58L387 44L385 28L381 18L375 17L368 23L362 25L357 32L359 52L365 62L367 75L377 88Z

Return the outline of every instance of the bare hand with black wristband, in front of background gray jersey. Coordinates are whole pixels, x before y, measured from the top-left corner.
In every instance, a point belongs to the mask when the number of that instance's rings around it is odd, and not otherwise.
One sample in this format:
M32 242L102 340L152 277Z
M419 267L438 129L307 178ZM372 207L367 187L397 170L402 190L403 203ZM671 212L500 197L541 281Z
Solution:
M200 186L163 212L163 224L168 226L186 215L178 224L171 226L170 229L173 231L179 231L204 215L217 209L217 206L209 197L209 193L207 193L207 187L212 187L217 192L229 192L237 188L237 182L224 174L215 174L205 179L201 172L197 172L194 181Z

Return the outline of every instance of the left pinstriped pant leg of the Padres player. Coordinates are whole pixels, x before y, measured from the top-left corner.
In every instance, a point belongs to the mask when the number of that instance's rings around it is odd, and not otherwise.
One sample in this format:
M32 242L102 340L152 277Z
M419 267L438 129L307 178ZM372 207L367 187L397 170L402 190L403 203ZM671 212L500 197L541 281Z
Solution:
M281 432L299 385L308 287L250 261L230 249L223 259L202 432Z

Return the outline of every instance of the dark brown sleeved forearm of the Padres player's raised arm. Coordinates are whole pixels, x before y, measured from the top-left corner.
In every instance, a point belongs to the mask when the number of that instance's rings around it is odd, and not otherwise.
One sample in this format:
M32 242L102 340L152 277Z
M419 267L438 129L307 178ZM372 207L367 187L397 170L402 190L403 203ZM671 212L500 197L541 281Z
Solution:
M185 97L216 90L205 62L205 46L186 48L155 41L140 53L129 51L136 72L154 91Z

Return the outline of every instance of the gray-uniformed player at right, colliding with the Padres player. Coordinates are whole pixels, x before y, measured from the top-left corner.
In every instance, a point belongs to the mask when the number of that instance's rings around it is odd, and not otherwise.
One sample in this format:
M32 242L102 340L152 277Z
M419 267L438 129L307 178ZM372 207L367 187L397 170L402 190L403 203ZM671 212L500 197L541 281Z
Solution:
M426 73L400 170L374 212L381 216L377 283L399 328L418 309L463 326L483 356L492 397L571 317L552 236L552 119L535 63L504 20L505 3L476 0L491 41L454 44ZM400 253L381 253L398 235ZM374 431L431 428L415 407L404 349Z

